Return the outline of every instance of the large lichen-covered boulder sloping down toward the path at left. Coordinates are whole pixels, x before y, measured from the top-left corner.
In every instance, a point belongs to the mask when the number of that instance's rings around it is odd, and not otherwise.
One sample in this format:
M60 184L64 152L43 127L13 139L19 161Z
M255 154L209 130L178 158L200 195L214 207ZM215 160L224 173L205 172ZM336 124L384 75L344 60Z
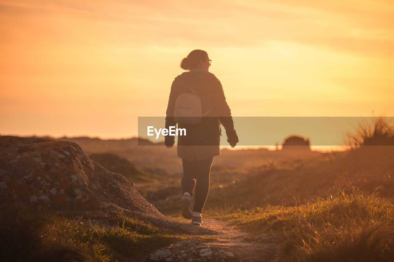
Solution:
M0 137L0 202L50 210L128 210L165 219L123 175L91 161L78 144Z

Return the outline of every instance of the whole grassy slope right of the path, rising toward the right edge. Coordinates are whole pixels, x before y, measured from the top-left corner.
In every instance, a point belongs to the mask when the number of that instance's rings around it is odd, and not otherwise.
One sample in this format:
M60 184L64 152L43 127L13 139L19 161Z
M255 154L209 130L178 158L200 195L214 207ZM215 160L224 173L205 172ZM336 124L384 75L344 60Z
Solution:
M238 191L242 201L267 204L217 215L256 235L281 234L282 260L393 261L393 167L392 146L359 148L293 170L276 167L245 179L248 190L229 188L223 197L229 201ZM208 214L223 201L212 200Z

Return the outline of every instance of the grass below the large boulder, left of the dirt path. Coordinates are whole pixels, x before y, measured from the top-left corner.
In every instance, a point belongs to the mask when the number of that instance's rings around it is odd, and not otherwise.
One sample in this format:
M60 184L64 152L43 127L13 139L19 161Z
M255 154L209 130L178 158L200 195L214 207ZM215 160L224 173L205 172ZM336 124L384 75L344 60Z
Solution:
M11 205L0 210L0 223L2 261L143 261L182 240L211 239L156 227L124 212L74 217Z

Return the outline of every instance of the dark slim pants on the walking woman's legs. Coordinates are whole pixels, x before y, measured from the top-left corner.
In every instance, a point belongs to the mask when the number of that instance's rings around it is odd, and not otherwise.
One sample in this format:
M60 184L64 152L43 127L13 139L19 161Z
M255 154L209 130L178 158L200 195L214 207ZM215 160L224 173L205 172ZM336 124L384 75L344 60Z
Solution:
M211 172L212 162L214 157L204 159L201 161L193 161L182 159L183 177L182 177L182 191L188 192L192 196L194 185L195 201L193 211L202 212L206 197L209 191L209 175Z

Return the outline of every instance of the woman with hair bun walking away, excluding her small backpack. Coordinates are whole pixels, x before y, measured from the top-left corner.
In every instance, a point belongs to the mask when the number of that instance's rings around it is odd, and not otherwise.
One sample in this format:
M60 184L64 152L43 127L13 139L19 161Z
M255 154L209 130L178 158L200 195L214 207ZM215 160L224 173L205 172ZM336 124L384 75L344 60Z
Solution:
M226 130L227 142L233 148L238 143L229 105L223 88L216 76L209 71L211 60L203 50L193 50L182 59L180 67L184 72L175 77L168 100L165 127L175 126L174 110L180 94L191 93L201 101L202 120L199 124L178 123L185 128L186 135L178 136L177 153L182 159L183 177L181 210L182 216L191 219L195 225L202 224L202 212L209 191L209 177L214 157L220 155L220 124ZM171 148L174 136L165 136L165 146ZM195 186L195 205L192 190Z

